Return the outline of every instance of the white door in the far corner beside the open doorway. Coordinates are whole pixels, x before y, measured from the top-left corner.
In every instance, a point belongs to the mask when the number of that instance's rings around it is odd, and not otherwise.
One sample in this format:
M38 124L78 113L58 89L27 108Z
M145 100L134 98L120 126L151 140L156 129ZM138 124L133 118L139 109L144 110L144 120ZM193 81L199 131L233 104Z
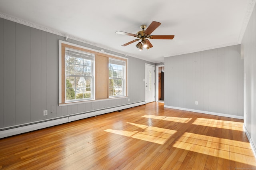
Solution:
M146 103L155 101L155 66L145 65L145 100Z

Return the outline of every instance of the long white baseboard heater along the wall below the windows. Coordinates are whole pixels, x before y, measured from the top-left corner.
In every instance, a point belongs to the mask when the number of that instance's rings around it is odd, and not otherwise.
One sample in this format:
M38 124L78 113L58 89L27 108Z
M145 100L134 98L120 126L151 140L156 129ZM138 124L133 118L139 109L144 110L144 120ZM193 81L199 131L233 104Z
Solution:
M0 138L5 138L5 137L13 136L16 134L30 132L33 130L38 130L38 129L42 129L42 128L46 128L46 127L60 125L63 123L68 123L68 122L72 122L72 121L76 121L76 120L80 120L80 119L85 119L88 117L111 113L114 111L120 111L123 109L128 109L131 107L136 107L136 106L145 105L145 104L146 104L146 102L142 101L142 102L138 102L138 103L131 103L129 105L120 105L117 107L109 107L109 108L89 111L89 112L85 112L85 113L77 113L74 115L66 115L64 117L47 119L44 121L36 121L36 122L26 123L26 124L17 125L17 126L1 128L0 129Z

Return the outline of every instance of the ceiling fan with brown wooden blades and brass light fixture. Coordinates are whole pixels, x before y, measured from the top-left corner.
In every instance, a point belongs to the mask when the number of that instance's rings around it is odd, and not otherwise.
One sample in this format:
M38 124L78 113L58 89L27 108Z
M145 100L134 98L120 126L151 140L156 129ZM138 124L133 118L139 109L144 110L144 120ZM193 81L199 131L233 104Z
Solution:
M144 30L146 28L146 25L141 25L140 28L142 29L142 31L137 32L137 34L131 34L131 33L127 33L127 32L122 32L122 31L117 31L116 34L122 34L122 35L127 35L127 36L133 36L133 37L137 37L138 39L136 40L132 40L131 42L125 43L121 46L126 46L129 45L131 43L134 43L136 41L141 40L141 42L139 42L136 47L142 51L143 47L146 49L150 49L151 47L153 47L153 45L150 43L149 39L162 39L162 40L172 40L174 38L173 35L161 35L161 36L154 36L154 35L150 35L154 30L156 30L156 28L158 28L158 26L160 26L161 23L160 22L156 22L153 21L146 30Z

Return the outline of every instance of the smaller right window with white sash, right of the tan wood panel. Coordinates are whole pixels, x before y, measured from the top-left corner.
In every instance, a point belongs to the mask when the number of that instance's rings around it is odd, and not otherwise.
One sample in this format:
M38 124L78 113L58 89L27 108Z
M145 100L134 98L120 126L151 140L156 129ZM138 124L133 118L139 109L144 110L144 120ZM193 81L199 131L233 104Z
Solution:
M123 60L108 60L108 93L109 97L125 96L125 66Z

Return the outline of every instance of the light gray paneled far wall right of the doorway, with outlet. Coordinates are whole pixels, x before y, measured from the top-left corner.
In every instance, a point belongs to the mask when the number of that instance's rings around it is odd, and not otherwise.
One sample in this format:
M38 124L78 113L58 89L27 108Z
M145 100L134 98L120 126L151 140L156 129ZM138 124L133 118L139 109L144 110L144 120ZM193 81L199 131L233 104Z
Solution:
M165 105L243 116L243 63L240 45L165 57Z

